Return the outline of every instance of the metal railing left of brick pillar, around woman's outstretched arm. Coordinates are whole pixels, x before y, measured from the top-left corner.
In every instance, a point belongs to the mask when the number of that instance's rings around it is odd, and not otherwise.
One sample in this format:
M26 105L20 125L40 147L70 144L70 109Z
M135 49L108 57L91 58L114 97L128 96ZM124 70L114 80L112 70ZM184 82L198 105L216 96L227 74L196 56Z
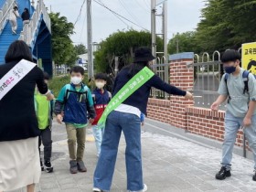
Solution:
M162 58L156 58L155 59L156 64L151 66L151 69L155 72L156 75L158 75L162 80L165 80L166 83L170 82L169 79L169 68L170 64L165 59L165 57ZM150 96L152 98L156 99L165 99L168 100L170 98L169 94L165 93L165 91L160 91L155 88L151 89Z

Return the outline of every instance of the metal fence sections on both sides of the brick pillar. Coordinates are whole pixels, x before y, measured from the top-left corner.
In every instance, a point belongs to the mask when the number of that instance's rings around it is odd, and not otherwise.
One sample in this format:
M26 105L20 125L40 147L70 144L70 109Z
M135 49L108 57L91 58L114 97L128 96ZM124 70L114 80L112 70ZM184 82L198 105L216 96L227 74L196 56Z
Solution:
M169 83L169 67L165 58L156 59L156 64L151 68L162 80ZM207 52L201 56L195 54L194 63L190 68L194 68L194 86L193 93L195 96L195 106L209 108L210 105L219 97L219 82L223 75L223 67L220 61L219 51L215 51L212 55ZM150 96L156 99L169 100L169 94L156 89L151 90ZM225 110L226 103L222 104L219 109Z

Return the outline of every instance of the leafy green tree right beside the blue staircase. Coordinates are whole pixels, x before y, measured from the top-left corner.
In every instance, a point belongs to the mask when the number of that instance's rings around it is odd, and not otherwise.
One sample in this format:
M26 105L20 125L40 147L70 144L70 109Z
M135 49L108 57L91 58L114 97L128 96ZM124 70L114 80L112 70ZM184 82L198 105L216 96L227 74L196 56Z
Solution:
M68 22L66 16L50 13L52 31L53 59L57 64L73 65L77 59L77 52L70 36L74 34L74 26Z

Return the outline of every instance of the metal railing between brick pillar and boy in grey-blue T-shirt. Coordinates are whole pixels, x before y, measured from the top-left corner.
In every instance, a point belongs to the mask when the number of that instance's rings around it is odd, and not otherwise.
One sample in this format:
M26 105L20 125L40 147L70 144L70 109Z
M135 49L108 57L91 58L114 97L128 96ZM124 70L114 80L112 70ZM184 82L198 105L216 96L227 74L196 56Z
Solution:
M195 106L209 108L210 105L219 97L219 82L223 75L223 67L220 61L219 51L215 51L210 56L207 52L203 53L201 58L195 54L194 68L194 89ZM222 104L219 109L225 110L226 103Z

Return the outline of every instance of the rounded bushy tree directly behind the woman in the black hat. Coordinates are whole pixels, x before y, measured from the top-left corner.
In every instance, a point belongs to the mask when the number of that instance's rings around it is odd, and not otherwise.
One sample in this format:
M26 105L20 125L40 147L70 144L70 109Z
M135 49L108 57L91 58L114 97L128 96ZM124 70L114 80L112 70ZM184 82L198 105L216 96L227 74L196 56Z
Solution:
M163 40L156 38L159 51L163 51ZM95 53L97 71L114 74L114 58L119 57L119 69L133 62L135 48L151 47L151 34L145 31L118 31L100 43Z

